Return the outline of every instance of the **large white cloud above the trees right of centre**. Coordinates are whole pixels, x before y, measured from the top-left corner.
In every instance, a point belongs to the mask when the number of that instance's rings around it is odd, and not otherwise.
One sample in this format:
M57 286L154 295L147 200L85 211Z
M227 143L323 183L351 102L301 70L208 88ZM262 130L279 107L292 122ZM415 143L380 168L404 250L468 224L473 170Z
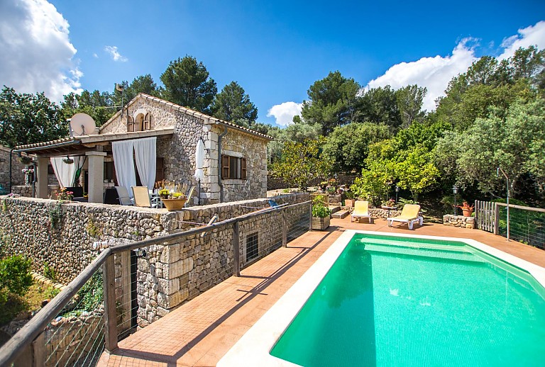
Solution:
M414 62L395 64L384 75L370 81L365 88L390 85L393 89L400 89L411 84L425 86L428 93L422 108L432 111L435 109L436 98L444 96L448 81L466 72L468 67L478 60L478 57L475 57L475 45L474 39L465 38L454 47L452 55L422 57Z

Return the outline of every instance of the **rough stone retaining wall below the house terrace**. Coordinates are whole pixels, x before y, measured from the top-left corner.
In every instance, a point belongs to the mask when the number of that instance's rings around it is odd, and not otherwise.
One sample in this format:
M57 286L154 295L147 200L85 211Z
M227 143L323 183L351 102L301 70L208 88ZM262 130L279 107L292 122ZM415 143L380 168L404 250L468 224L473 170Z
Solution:
M275 201L302 203L305 193L277 196ZM45 263L62 283L72 281L99 254L94 242L119 246L142 239L182 232L268 207L267 199L186 208L176 212L96 203L60 203L49 199L1 199L0 235L7 254L23 254L33 269L43 272ZM288 237L308 229L308 205L272 210L240 223L241 267L269 254L282 244L282 221ZM307 219L308 220L308 219ZM256 239L255 249L248 244ZM116 297L124 308L121 329L127 329L131 294L128 252L116 255ZM219 227L201 237L180 237L174 243L153 245L138 257L136 276L138 325L145 327L233 275L233 226Z

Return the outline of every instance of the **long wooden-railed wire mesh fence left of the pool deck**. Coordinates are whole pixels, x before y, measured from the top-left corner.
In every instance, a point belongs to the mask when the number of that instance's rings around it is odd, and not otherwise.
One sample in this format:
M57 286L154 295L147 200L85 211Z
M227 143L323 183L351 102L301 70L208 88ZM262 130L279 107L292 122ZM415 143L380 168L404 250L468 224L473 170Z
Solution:
M32 344L34 358L45 366L95 366L104 349L115 349L139 327L307 232L309 205L258 208L214 225L104 249L57 295L55 305L42 310L44 320L31 320L22 330L26 344L14 343L4 355L0 350L0 364Z

